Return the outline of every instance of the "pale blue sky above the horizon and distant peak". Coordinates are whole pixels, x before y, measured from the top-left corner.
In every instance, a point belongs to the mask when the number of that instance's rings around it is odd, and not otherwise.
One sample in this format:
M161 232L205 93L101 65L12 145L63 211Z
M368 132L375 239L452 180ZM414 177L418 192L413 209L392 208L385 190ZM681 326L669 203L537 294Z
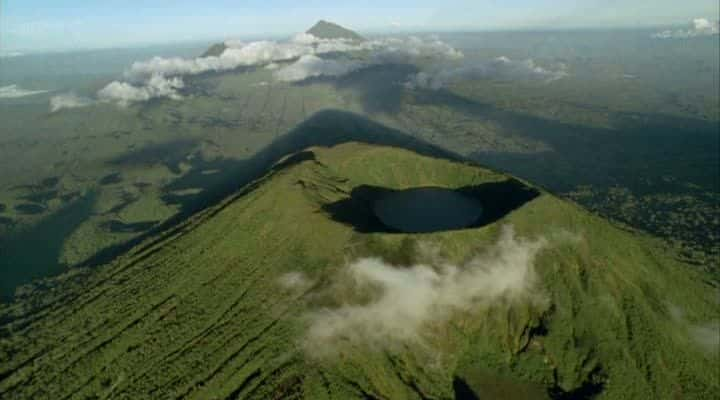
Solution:
M717 19L717 0L0 0L0 51L359 31L637 27Z

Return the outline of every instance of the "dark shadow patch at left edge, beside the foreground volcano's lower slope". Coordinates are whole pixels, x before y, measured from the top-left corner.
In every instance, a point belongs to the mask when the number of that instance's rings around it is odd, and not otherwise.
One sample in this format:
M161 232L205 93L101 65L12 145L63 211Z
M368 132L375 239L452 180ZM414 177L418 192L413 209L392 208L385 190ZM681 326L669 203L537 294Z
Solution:
M27 231L0 241L0 299L10 299L16 287L33 279L62 272L63 243L90 217L96 197L88 193Z

